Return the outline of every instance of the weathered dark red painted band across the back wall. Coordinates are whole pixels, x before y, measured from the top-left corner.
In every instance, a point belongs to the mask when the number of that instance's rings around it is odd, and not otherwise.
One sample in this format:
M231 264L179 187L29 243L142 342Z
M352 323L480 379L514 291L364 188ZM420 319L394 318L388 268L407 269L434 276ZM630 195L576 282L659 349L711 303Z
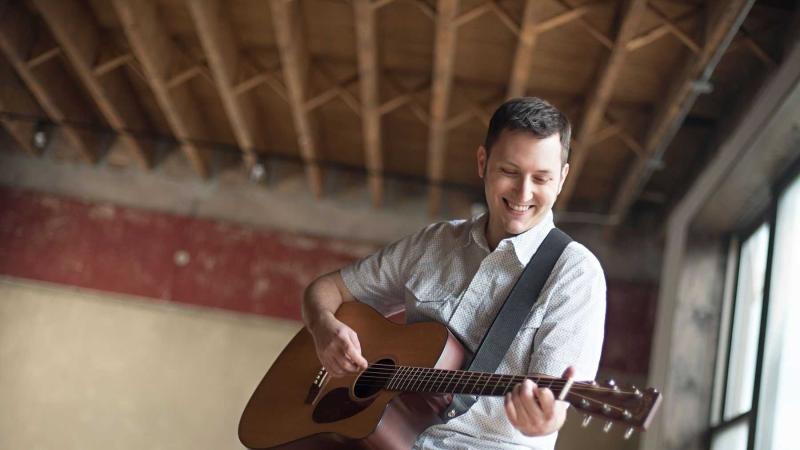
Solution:
M299 320L309 282L372 250L0 187L0 273L15 277ZM647 373L655 304L655 285L609 280L603 367Z

